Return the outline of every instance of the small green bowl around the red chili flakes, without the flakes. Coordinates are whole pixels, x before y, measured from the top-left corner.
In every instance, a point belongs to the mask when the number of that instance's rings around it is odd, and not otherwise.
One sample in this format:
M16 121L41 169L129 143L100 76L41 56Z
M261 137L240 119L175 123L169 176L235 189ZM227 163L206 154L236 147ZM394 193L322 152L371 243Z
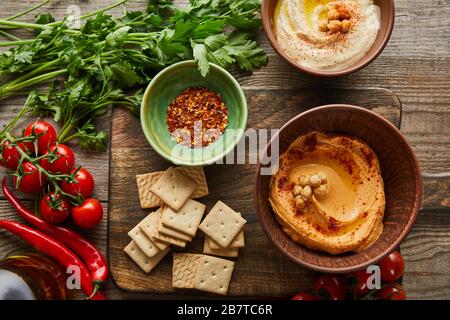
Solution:
M203 148L178 144L167 126L167 109L183 90L205 87L220 94L228 108L228 127L214 143ZM212 164L234 149L247 126L247 101L239 83L225 69L210 64L203 77L195 61L176 63L161 71L149 84L141 107L141 126L150 145L162 157L182 166Z

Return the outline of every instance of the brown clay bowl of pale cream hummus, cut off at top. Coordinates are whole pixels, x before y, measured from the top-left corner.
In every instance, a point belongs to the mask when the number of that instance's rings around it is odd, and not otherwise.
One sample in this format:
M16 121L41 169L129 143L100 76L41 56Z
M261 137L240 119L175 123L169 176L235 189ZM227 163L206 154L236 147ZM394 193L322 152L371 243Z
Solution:
M300 71L323 77L356 72L387 45L394 0L263 0L264 31Z

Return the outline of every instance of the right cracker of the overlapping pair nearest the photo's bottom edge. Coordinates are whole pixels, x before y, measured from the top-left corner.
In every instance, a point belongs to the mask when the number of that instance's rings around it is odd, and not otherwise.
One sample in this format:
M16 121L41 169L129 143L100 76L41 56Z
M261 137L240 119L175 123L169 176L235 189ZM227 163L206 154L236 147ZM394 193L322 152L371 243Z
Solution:
M195 273L194 288L226 295L233 275L234 262L211 256L203 256Z

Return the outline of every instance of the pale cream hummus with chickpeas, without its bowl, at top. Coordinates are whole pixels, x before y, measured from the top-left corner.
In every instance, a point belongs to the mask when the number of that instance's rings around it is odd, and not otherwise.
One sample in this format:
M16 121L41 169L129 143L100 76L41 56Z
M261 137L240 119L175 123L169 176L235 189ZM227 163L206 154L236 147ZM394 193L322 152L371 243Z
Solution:
M380 15L373 0L279 0L274 21L291 59L312 70L340 71L373 46Z

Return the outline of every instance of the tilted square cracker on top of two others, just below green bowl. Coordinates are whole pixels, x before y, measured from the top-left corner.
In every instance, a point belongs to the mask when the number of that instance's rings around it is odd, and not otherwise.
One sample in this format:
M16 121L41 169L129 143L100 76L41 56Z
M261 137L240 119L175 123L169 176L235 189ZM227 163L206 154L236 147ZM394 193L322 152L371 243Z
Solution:
M170 167L150 187L150 191L160 197L169 207L178 211L196 188L197 185L194 181L174 167Z

